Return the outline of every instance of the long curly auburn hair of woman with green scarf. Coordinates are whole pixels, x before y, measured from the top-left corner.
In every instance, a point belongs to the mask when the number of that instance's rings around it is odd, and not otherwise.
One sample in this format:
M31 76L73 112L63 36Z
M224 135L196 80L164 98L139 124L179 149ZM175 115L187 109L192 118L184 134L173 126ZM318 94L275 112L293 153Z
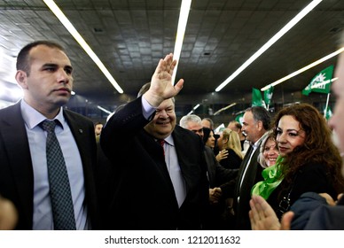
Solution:
M300 128L306 133L304 143L286 154L281 163L286 184L293 183L294 175L302 166L309 164L311 161L326 165L335 190L338 193L343 192L344 177L340 173L342 163L340 151L332 143L332 131L324 117L314 106L309 104L296 104L285 107L277 113L273 120L272 125L275 136L277 136L278 122L285 115L291 115L295 120L299 121Z

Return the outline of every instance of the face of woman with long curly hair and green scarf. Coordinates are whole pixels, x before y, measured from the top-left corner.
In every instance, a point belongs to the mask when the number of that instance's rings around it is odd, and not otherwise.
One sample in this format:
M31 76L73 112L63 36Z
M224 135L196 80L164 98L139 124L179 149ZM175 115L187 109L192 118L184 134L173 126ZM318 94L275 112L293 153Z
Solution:
M278 121L277 134L278 151L282 157L292 152L295 147L301 146L306 137L300 122L295 120L292 115L284 115Z

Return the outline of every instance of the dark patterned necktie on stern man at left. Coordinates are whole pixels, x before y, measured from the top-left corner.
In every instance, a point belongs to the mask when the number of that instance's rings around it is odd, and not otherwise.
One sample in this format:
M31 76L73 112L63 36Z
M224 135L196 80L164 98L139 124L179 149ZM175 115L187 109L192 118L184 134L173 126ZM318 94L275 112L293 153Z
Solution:
M55 230L74 230L74 205L69 185L66 163L58 138L55 121L44 120L41 127L47 131L46 156L51 195L52 217Z

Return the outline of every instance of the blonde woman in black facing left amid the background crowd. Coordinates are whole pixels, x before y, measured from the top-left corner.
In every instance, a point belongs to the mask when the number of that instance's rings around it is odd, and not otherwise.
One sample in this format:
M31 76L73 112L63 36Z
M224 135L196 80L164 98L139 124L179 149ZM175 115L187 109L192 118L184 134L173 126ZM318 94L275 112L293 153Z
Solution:
M219 154L216 156L220 165L228 169L238 169L244 156L241 153L241 145L238 133L231 129L223 129L217 140ZM221 157L224 154L223 157Z

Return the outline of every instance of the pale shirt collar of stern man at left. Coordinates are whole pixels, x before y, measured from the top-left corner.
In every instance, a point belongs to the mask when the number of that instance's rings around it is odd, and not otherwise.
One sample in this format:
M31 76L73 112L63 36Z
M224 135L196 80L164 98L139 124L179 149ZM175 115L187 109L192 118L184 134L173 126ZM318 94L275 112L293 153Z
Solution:
M47 118L41 113L35 110L32 106L28 105L24 99L20 101L20 111L27 128L33 129L37 125L39 125L43 120ZM61 128L63 127L63 123L65 123L65 117L63 116L63 109L60 107L58 115L53 120L59 120L61 124Z

